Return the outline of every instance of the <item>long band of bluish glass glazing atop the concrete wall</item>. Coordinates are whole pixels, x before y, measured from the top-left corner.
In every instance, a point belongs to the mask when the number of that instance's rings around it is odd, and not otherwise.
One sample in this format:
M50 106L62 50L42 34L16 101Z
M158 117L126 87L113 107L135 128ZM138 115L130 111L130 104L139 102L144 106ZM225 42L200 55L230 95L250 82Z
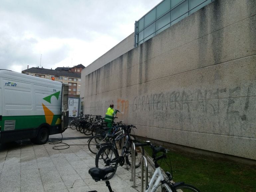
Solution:
M163 0L135 22L135 47L214 0Z

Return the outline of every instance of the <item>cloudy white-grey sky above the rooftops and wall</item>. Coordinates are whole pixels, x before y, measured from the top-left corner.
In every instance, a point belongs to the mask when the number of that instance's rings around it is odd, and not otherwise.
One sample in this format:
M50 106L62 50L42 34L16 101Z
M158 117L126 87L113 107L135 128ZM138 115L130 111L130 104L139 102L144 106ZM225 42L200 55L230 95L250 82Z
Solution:
M0 69L89 65L161 0L0 0ZM41 56L42 55L42 56Z

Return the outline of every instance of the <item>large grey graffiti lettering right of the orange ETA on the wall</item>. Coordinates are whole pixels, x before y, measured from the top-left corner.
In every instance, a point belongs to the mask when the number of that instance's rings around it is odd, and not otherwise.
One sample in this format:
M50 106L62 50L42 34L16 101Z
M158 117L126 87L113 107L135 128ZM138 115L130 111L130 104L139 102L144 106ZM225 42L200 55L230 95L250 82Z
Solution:
M244 95L247 92L247 96ZM133 112L150 115L150 123L171 122L173 127L213 127L227 133L242 133L249 126L248 117L255 101L252 84L247 88L175 90L135 96ZM248 110L248 108L251 108ZM255 109L254 109L255 111ZM239 129L239 130L238 130ZM221 130L221 131L222 131Z

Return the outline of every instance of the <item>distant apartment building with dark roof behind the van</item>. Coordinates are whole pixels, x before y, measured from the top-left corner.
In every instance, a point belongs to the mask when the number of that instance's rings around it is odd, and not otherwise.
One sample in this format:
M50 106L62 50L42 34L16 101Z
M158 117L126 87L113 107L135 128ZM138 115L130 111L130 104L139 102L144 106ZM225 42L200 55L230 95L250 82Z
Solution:
M82 64L73 67L57 67L56 69L32 67L23 70L22 73L67 84L69 86L69 97L78 97L80 95L81 71L83 68L85 67Z

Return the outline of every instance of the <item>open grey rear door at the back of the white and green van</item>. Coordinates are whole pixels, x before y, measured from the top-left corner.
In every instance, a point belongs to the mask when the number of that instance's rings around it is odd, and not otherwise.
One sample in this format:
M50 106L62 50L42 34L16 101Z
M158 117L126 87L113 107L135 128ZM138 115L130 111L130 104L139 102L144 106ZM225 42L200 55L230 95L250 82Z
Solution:
M65 131L68 126L68 85L65 84L62 84L61 110L61 129L62 131Z

